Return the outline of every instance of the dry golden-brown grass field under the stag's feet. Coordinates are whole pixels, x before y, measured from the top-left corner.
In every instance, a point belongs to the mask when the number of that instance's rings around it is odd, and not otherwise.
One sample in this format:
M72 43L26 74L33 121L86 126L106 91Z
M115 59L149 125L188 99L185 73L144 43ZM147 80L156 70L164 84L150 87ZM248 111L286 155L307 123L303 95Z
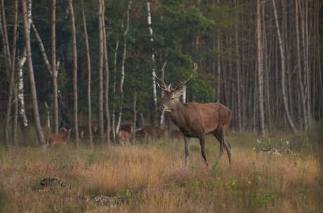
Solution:
M0 212L322 212L323 173L317 149L256 153L256 136L228 136L232 165L207 139L199 144L145 142L126 147L0 147ZM277 141L279 136L271 137ZM289 138L293 143L293 138ZM321 156L322 157L322 156ZM40 186L55 177L64 186Z

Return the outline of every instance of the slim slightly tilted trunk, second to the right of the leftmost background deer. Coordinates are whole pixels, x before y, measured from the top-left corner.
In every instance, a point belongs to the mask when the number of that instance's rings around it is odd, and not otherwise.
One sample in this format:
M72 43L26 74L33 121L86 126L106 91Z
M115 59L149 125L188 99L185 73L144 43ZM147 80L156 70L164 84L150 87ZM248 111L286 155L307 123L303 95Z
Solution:
M86 29L86 18L84 12L84 0L82 0L82 17L86 44L86 65L88 69L88 137L90 139L90 145L93 147L93 135L92 135L92 107L91 107L91 57L90 46L88 45L88 31Z

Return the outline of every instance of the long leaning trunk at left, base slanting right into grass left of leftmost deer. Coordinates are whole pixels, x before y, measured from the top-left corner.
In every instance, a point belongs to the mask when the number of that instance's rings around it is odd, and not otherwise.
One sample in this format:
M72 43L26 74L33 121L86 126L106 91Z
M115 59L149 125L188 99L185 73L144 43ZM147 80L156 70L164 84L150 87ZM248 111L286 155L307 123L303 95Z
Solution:
M37 137L39 140L39 144L41 144L41 146L45 147L46 142L44 139L43 131L41 130L39 109L38 109L38 103L37 103L37 91L36 91L36 85L35 85L35 81L34 81L34 69L32 67L32 50L31 50L32 48L30 46L26 0L22 0L21 4L22 4L22 17L23 17L24 31L25 31L25 46L26 46L26 50L27 50L29 82L30 82L30 90L32 92L32 106L34 109L34 123L36 125L36 131L37 131Z

